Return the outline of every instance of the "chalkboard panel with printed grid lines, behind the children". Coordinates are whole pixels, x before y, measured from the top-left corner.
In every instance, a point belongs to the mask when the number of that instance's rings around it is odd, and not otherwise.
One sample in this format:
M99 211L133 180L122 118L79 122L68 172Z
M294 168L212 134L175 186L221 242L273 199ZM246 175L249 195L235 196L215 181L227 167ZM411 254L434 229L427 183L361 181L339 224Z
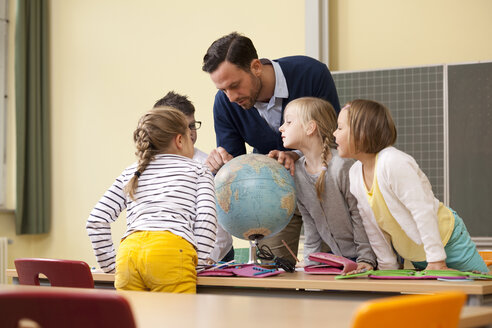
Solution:
M395 146L412 155L435 196L445 197L443 66L333 72L340 104L356 99L383 103L398 130Z

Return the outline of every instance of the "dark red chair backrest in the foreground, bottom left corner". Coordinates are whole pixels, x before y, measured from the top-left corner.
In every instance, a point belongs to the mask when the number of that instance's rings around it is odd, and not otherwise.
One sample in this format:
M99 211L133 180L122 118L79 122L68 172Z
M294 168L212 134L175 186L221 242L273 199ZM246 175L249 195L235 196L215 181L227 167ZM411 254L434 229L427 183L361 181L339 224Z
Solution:
M2 327L25 319L41 327L136 327L128 301L108 291L0 291L0 318Z

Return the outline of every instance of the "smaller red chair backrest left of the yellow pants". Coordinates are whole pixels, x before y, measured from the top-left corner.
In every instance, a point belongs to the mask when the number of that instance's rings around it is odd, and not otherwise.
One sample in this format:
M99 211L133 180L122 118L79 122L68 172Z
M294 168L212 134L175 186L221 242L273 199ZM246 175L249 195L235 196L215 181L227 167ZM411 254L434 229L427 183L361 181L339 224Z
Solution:
M39 286L42 273L52 286L94 288L91 268L83 261L22 258L14 262L21 285Z

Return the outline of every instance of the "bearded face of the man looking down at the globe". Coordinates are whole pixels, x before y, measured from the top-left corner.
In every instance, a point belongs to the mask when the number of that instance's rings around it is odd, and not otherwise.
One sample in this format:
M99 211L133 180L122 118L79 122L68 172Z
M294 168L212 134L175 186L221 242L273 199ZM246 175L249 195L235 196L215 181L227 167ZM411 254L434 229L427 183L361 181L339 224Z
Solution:
M243 109L254 106L261 90L260 78L251 71L247 72L228 61L222 62L210 78L217 89L223 91L230 102Z

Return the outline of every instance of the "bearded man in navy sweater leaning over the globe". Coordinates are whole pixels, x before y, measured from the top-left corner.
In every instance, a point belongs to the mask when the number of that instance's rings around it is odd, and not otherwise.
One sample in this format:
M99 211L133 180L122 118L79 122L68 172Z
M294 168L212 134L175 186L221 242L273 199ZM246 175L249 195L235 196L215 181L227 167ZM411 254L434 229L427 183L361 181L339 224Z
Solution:
M277 158L294 174L294 163L301 154L284 148L278 130L287 103L319 97L340 111L335 83L325 64L306 56L258 59L253 42L236 32L212 43L202 69L219 89L213 109L218 147L206 161L214 173L233 157L245 154L248 143L254 152ZM270 246L276 256L289 258L282 239L297 253L301 226L300 215L294 215L284 230L262 244Z

